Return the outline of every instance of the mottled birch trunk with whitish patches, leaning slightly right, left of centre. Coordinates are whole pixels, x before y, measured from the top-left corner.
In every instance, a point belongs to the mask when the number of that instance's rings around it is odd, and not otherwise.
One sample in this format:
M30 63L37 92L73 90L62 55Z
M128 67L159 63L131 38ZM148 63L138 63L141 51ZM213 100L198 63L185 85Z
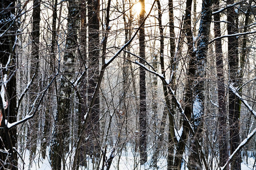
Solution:
M67 40L65 42L65 53L64 53L64 67L63 75L60 79L60 90L58 97L58 107L56 114L56 125L55 125L55 136L52 148L52 168L65 169L65 153L69 150L69 124L72 113L72 78L75 70L75 57L77 48L77 15L79 13L78 7L74 0L68 1L68 33Z

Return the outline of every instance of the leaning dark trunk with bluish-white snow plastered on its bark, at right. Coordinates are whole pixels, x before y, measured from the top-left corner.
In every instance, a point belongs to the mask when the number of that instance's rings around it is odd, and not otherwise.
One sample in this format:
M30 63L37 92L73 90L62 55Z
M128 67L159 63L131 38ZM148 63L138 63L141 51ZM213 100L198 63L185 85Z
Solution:
M212 19L212 0L203 0L201 10L201 20L199 27L199 40L197 41L196 50L196 72L195 85L193 94L193 126L195 134L191 141L191 155L189 156L189 169L201 169L203 163L201 162L201 148L197 141L202 141L202 128L204 116L204 100L205 100L205 75L206 62L208 52L208 40L210 35L210 22Z

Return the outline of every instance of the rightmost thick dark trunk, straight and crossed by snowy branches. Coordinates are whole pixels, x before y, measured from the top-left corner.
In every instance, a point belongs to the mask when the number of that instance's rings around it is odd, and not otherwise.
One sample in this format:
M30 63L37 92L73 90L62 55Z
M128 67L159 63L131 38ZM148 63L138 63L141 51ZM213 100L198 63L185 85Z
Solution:
M233 4L233 0L228 0L227 5ZM235 8L230 7L227 10L228 18L228 35L238 33L237 18L238 15L235 12ZM234 87L237 87L238 78L238 39L236 36L228 37L228 62L229 62L229 83L233 83ZM234 152L240 144L240 100L239 98L229 90L229 135L230 135L230 152ZM241 169L241 152L238 152L236 156L230 162L231 169Z

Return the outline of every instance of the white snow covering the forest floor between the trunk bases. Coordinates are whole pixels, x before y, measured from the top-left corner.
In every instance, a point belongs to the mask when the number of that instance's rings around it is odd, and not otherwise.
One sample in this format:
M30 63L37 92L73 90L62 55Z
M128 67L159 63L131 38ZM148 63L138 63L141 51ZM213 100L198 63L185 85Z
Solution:
M181 127L182 128L182 127ZM181 129L179 130L181 131ZM49 147L47 147L47 156L49 155ZM126 151L127 149L127 151ZM148 170L153 170L155 169L154 167L150 167L150 161L152 159L152 155L153 152L152 150L149 150L148 153L148 162L145 163L144 165L139 164L139 155L138 153L136 153L136 155L134 155L134 148L133 145L131 145L130 143L127 143L126 145L126 149L123 148L122 154L121 152L115 151L114 152L114 159L113 162L111 164L110 170L115 170L117 169L117 167L119 166L120 170L130 170L130 169L148 169ZM37 150L40 150L40 144L38 145ZM107 149L107 153L106 156L109 158L110 155L112 154L113 148L108 148ZM30 151L29 150L25 150L22 154L23 160L24 160L24 170L51 170L51 164L49 163L49 157L47 157L46 159L42 159L40 154L37 154L35 156L35 159L32 160L31 162L31 167L29 167L29 163L30 163ZM69 155L71 156L71 155ZM67 159L66 159L66 169L71 169L71 167L69 167L70 165L72 165L72 158L70 159L69 156L67 155ZM120 162L119 165L117 164L118 162L118 158L120 156ZM188 156L188 155L187 155ZM187 157L184 154L184 159L187 162ZM86 159L89 165L89 169L93 169L93 163L92 163L92 159L87 158ZM137 168L134 168L134 165L137 164ZM213 164L217 164L216 161L213 162ZM253 157L249 157L248 159L248 164L246 164L245 162L241 163L241 169L242 170L251 170L253 169L253 164L254 164L254 158ZM160 170L167 170L167 158L162 155L160 156L160 158L158 159L158 169ZM182 163L181 165L181 169L182 170L187 170L187 163ZM68 167L67 167L68 166ZM213 167L217 167L217 165L213 165ZM23 163L22 161L19 159L19 168L18 169L23 169ZM79 168L81 169L85 169L85 168Z

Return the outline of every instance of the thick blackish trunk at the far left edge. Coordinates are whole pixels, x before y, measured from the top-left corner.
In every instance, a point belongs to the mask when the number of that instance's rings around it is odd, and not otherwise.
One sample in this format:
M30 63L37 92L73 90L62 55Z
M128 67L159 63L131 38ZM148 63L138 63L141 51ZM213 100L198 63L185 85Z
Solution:
M17 147L17 134L16 127L13 129L8 129L5 125L5 119L8 122L13 123L16 121L17 111L16 111L16 54L15 54L15 37L16 37L16 20L15 16L15 1L1 1L0 3L1 14L0 20L0 62L2 66L7 66L8 69L1 70L1 82L3 80L3 75L7 75L6 84L6 96L5 100L8 101L8 107L3 109L1 104L1 112L5 114L3 117L2 125L0 129L0 149L9 150L10 155L0 152L0 169L18 169L17 166L17 152L13 150L13 147ZM4 33L5 32L5 33ZM2 35L3 33L3 35ZM10 57L10 58L9 58ZM8 62L10 59L10 63ZM7 65L7 63L9 63ZM1 87L3 84L1 83ZM2 99L0 97L1 103ZM7 158L7 159L6 159Z

